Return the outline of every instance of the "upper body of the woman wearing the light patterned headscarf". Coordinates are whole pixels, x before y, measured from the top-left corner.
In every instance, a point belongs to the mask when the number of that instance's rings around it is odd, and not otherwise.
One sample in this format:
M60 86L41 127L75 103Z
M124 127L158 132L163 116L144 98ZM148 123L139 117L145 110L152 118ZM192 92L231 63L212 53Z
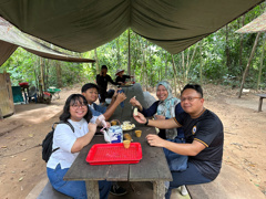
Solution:
M156 96L158 97L158 101L154 102L149 108L144 108L135 97L132 97L130 103L133 106L136 106L145 117L154 116L155 119L172 118L176 114L184 112L180 105L180 100L173 97L172 87L168 82L162 81L157 83ZM158 136L164 139L174 139L177 136L177 132L178 137L184 138L184 132L182 128L177 128L177 130L176 128L160 129Z

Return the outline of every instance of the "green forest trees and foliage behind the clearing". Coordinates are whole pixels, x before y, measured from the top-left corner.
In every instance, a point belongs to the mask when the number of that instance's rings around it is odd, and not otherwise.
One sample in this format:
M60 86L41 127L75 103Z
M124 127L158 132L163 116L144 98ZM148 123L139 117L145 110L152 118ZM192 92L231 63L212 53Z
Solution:
M125 74L127 73L130 31L131 75L134 75L135 81L142 85L155 86L161 80L173 80L171 83L177 85L176 88L186 83L214 83L239 87L256 33L238 34L235 31L260 15L265 7L265 3L257 6L178 54L170 54L132 30L127 30L115 40L80 54L82 57L95 59L96 62L93 64L42 59L19 48L0 67L0 72L6 71L11 74L12 85L18 85L19 82L37 85L42 75L40 66L43 64L42 77L45 84L62 87L78 82L94 82L100 66L105 64L109 66L109 74L115 78L117 69L124 69ZM263 33L245 87L258 90L266 87L264 41Z

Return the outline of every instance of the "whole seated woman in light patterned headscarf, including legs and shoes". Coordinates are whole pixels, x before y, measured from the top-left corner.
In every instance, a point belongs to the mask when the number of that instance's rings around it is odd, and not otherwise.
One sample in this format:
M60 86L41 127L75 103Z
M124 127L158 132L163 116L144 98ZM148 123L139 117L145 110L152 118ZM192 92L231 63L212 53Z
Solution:
M168 82L162 81L157 83L156 96L158 101L154 102L149 108L144 108L141 103L132 97L130 103L136 106L137 109L145 116L154 116L155 119L168 119L175 117L175 115L183 113L181 107L181 101L172 95L172 87ZM171 139L174 143L185 143L185 136L183 128L160 129L158 136L163 139ZM170 169L181 171L186 169L187 156L176 155L167 149L164 149ZM168 182L165 184L166 187ZM181 193L187 195L185 186L181 186Z

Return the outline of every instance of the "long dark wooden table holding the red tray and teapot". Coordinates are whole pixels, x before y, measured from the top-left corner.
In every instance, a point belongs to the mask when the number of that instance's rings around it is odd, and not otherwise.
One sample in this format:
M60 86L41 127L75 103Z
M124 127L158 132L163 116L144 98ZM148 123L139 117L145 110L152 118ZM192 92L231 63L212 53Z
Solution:
M98 199L99 197L99 180L109 181L152 181L153 182L153 198L163 199L165 193L164 181L171 181L172 175L168 169L162 148L151 147L145 136L147 134L155 134L154 127L147 127L137 124L132 118L132 106L129 103L130 98L136 98L146 106L143 97L143 92L140 84L133 86L122 87L127 98L124 102L124 108L120 106L116 108L112 119L131 121L136 125L135 129L142 130L142 136L137 138L134 130L126 132L132 135L133 142L137 142L142 146L142 159L137 164L124 165L89 165L85 161L90 148L94 144L103 144L103 136L94 136L92 142L85 146L72 164L71 168L64 176L64 180L84 180L88 190L88 198Z

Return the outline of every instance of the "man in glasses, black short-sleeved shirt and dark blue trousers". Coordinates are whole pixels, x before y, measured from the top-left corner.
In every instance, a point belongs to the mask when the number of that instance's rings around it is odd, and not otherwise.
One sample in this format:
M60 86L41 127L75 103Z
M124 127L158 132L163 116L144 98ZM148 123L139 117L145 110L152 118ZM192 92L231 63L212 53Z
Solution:
M187 168L184 171L171 171L165 199L170 199L173 188L182 185L196 185L213 181L222 167L224 129L217 115L203 106L203 91L200 85L187 84L181 92L183 113L165 121L152 121L141 113L134 118L145 125L157 128L176 128L183 126L186 144L172 143L157 135L147 135L151 146L164 147L173 153L188 156Z

